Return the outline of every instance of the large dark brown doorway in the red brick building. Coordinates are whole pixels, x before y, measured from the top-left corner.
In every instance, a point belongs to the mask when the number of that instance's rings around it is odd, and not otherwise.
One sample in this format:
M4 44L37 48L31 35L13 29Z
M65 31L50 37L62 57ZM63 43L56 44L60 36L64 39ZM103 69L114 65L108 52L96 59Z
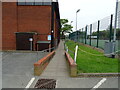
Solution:
M31 50L30 38L33 38L33 33L16 33L16 50Z

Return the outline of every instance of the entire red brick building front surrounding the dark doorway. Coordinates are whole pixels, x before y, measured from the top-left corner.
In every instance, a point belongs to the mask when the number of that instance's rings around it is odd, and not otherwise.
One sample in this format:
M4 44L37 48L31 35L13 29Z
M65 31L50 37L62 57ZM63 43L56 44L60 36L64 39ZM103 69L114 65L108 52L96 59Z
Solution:
M38 35L37 40L41 41L47 40L51 33L51 6L17 6L16 2L5 2L2 10L3 50L16 50L15 32L46 34Z

